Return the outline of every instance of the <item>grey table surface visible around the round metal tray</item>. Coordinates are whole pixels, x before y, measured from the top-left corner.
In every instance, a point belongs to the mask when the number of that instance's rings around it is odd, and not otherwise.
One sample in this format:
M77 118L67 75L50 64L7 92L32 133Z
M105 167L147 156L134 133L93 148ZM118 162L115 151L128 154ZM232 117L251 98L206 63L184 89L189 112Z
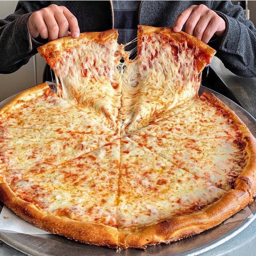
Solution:
M256 118L256 79L241 78L229 70L215 58L211 63L211 68L231 91L240 105ZM245 230L236 235L224 244L200 254L201 256L246 256L256 255L256 220L253 221ZM1 256L24 256L23 253L11 248L0 241Z

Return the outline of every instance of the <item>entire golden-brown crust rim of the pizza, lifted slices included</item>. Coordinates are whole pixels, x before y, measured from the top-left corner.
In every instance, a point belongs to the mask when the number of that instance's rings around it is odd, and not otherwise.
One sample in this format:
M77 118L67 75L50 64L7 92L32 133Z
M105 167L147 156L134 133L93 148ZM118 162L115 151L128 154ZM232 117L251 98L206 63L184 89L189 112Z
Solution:
M140 37L142 33L151 34L155 32L167 35L181 42L186 41L193 46L197 46L201 51L204 51L210 56L215 54L215 50L209 48L199 39L187 35L184 32L174 33L173 30L168 27L154 28L139 26L138 36ZM79 40L83 40L83 38L105 43L110 39L116 40L117 36L116 30L81 33L78 39L73 39L71 36L57 39L39 47L38 51L49 63L49 61L52 62L58 58L58 55L65 46L75 46L79 43ZM198 71L201 72L205 61L203 58L199 58L198 63ZM31 99L32 96L41 96L43 93L49 92L49 90L47 83L26 90L15 97L6 106L2 107L0 114L3 114L12 106L18 105L19 102L27 101ZM205 207L203 210L189 215L172 217L153 225L118 230L117 228L100 223L75 221L67 217L59 217L41 211L35 207L34 204L17 197L9 185L3 183L1 177L0 200L25 221L44 230L54 234L64 235L67 238L77 241L93 245L104 245L110 248L133 247L145 249L147 245L177 241L220 224L251 203L253 197L255 197L256 139L239 117L213 94L203 93L201 99L205 99L214 107L222 109L223 113L233 121L233 124L239 127L241 143L245 143L245 154L247 155L247 164L235 181L234 189L226 192L221 199Z

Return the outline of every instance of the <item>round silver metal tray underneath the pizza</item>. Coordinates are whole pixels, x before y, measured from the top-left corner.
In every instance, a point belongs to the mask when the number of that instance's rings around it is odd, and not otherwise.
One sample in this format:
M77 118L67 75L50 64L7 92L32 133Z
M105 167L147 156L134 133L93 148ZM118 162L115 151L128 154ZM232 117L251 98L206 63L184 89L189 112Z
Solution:
M203 91L213 92L219 99L221 99L221 101L229 106L230 109L235 111L235 113L250 129L251 133L256 137L256 120L247 111L225 96L201 86L199 94L201 94ZM0 103L0 107L4 106L14 96L2 101ZM21 233L0 232L0 240L21 251L22 253L31 256L192 256L201 254L218 245L221 245L245 229L256 218L256 202L251 203L249 208L254 214L253 218L219 225L198 235L194 235L193 237L186 238L181 241L173 242L169 245L161 244L149 246L147 247L146 251L129 248L127 250L116 252L113 249L86 245L84 243L69 240L54 234L27 235Z

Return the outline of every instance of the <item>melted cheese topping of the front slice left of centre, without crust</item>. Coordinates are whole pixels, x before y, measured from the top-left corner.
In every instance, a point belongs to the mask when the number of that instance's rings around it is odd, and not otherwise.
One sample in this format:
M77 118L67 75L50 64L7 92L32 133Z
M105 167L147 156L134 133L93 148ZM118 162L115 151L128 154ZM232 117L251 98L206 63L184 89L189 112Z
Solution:
M116 140L11 187L48 213L116 226L119 165Z

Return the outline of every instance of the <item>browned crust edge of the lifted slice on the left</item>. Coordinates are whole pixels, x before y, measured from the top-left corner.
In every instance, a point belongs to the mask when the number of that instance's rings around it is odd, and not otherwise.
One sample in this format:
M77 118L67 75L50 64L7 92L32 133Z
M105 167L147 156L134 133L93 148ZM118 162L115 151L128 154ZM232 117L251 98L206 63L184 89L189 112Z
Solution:
M80 45L85 39L96 41L98 43L105 43L110 39L117 40L117 30L111 29L103 32L85 32L80 33L79 38L72 38L71 35L62 37L46 43L43 46L37 48L40 55L45 58L47 63L51 66L55 66L55 62L58 59L61 51L65 48L72 48L76 45Z

